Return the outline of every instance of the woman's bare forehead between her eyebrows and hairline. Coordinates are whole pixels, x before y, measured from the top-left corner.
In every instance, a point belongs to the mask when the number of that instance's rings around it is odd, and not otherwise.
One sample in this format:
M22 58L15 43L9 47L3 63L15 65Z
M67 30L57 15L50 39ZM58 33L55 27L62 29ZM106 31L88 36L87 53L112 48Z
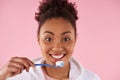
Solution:
M71 23L63 18L52 18L45 21L41 26L40 33L44 33L45 31L51 31L56 34L70 31L74 34L74 29Z

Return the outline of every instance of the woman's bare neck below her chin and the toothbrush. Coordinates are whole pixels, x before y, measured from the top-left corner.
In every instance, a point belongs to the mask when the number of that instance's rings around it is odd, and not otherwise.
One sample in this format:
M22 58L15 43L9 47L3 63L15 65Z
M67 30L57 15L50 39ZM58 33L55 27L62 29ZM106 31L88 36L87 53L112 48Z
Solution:
M43 70L51 78L68 79L69 78L70 64L68 63L62 68L43 67Z

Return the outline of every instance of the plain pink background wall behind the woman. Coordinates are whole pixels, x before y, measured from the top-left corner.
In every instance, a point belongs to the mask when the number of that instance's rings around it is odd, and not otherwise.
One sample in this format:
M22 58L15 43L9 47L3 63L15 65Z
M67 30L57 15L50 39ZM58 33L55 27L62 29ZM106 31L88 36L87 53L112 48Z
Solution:
M72 0L79 11L74 57L102 80L120 80L120 0ZM0 67L12 56L41 56L39 0L0 0Z

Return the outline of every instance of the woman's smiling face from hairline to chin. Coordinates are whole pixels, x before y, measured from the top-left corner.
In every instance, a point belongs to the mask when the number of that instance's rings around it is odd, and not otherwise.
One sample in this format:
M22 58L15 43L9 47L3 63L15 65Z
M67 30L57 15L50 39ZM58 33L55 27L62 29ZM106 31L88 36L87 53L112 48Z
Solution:
M76 41L75 31L69 21L63 18L46 20L38 38L46 63L64 61L64 64L68 64Z

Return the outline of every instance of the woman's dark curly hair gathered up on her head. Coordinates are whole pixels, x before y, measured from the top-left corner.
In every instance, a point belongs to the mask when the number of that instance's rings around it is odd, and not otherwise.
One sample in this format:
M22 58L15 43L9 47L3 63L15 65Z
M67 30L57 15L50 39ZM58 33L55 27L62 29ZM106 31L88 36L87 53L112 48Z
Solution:
M38 11L38 13L35 13L35 19L39 23L37 36L39 36L40 28L46 20L60 17L72 24L76 35L76 20L78 16L75 3L68 2L68 0L42 0Z

